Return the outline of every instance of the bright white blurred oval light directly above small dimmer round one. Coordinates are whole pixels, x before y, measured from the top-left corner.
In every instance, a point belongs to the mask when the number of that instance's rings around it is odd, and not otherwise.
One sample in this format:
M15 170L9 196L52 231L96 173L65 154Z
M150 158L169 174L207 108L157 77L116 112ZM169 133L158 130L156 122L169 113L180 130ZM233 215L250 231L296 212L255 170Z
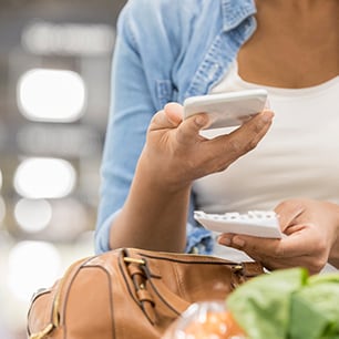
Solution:
M27 198L60 198L75 185L73 166L58 158L27 158L17 168L14 187Z

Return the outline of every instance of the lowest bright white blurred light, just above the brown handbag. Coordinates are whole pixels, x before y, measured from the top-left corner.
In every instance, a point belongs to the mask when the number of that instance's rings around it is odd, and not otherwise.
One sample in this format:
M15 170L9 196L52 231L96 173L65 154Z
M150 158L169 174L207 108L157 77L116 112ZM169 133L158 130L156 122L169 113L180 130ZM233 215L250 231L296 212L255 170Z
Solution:
M38 289L52 286L61 269L60 254L50 243L18 243L8 260L9 288L24 301L30 300Z

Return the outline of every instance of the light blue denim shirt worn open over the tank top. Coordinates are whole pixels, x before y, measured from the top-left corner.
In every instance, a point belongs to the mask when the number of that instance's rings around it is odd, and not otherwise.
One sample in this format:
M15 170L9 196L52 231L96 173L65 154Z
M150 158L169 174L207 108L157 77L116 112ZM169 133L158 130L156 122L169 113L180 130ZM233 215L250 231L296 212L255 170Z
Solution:
M167 102L208 93L255 31L255 13L253 0L130 0L125 4L112 64L96 253L110 249L110 225L129 194L153 114ZM192 192L186 251L210 254L212 235L195 223L194 209Z

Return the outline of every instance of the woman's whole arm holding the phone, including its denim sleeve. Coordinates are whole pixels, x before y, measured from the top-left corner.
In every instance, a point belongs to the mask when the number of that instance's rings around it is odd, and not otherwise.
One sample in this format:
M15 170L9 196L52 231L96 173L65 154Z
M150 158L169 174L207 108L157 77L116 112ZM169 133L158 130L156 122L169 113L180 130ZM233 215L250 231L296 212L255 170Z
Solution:
M154 44L154 40L143 43L143 27L135 21L140 18L138 2L133 3L133 9L129 7L120 18L114 50L96 251L125 246L183 250L192 181L226 168L255 147L273 114L259 115L238 132L206 144L198 135L206 121L182 123L181 106L170 105L154 116L156 107L171 100L164 97L171 89L164 91L163 85L172 84L175 49L166 37L157 37L157 49L150 52L144 43ZM156 65L161 70L154 74ZM155 91L160 80L162 86Z

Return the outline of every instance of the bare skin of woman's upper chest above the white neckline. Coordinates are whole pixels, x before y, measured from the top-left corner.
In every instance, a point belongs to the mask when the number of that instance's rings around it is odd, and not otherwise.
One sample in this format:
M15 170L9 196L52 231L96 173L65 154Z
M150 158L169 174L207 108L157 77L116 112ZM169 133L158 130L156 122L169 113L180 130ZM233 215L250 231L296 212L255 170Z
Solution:
M297 16L259 6L257 30L238 52L240 76L286 89L309 88L337 76L338 4L336 9Z

